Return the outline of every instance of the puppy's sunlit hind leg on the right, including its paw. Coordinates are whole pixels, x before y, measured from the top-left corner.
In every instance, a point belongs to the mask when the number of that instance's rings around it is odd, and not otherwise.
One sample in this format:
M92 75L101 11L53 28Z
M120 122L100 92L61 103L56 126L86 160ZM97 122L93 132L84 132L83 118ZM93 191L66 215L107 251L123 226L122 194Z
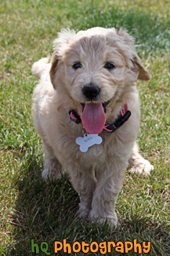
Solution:
M128 167L132 173L143 173L145 175L150 174L150 171L154 169L154 166L150 165L150 162L139 154L139 147L137 143L135 143L132 148L132 154L128 160Z

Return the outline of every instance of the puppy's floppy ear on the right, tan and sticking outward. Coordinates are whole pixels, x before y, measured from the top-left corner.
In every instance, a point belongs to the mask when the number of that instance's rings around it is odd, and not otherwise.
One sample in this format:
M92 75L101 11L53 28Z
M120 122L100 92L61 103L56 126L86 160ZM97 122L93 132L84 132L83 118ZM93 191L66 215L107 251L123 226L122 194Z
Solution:
M138 79L139 80L150 80L151 75L150 72L142 65L139 56L136 54L132 60L134 65L134 69L139 72ZM134 71L135 71L134 70Z

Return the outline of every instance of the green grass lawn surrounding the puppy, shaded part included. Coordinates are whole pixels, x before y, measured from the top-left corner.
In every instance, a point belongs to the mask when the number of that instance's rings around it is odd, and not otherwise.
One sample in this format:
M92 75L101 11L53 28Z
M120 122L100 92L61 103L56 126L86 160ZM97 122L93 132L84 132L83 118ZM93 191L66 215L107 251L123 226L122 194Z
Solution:
M150 240L150 255L168 255L168 1L3 0L0 9L0 255L33 255L31 239L48 242L52 254L54 240ZM67 176L48 184L42 181L42 142L31 121L31 94L37 83L31 65L52 54L52 40L60 28L94 26L127 28L152 74L152 80L138 84L139 146L154 171L151 176L127 172L116 206L121 226L113 231L107 224L99 227L78 220L78 195Z

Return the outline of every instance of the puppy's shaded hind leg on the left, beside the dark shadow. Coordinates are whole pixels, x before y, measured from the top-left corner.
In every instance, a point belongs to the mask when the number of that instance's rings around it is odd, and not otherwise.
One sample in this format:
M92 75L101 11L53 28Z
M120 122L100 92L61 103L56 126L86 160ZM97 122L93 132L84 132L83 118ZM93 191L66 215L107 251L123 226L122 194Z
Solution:
M44 169L42 171L42 178L45 180L47 180L48 177L53 180L58 179L61 176L61 173L63 173L63 166L47 143L43 143L43 152Z

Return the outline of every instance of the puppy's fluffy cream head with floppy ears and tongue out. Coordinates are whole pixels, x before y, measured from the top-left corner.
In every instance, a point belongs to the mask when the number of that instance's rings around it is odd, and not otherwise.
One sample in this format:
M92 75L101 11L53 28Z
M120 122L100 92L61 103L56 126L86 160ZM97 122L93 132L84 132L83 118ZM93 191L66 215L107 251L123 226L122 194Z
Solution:
M63 31L54 47L53 87L64 87L73 102L82 106L82 124L89 133L103 130L107 105L122 98L137 79L150 80L132 36L122 29L118 33L114 28L91 28L77 34Z

